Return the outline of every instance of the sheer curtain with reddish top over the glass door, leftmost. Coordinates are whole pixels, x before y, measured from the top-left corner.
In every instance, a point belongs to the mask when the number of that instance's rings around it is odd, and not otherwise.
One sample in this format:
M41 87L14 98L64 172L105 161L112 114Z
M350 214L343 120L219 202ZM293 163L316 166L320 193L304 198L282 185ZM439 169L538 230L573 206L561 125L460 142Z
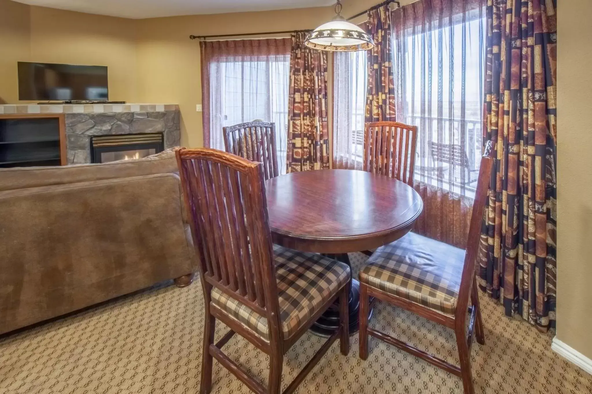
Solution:
M224 150L224 126L274 122L279 170L285 173L290 48L289 38L202 45L204 145Z

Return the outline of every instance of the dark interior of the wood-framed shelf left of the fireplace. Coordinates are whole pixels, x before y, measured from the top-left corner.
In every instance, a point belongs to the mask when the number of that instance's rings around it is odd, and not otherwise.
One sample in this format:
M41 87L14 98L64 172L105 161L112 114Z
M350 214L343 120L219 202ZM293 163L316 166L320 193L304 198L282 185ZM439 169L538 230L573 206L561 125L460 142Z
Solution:
M0 167L60 165L57 118L0 119Z

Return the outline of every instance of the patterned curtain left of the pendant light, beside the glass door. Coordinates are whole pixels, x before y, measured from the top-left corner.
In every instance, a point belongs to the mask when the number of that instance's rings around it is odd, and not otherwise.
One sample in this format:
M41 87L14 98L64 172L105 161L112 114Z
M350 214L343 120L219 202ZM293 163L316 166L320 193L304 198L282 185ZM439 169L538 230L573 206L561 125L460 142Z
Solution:
M329 168L327 53L306 47L305 38L292 34L287 172Z

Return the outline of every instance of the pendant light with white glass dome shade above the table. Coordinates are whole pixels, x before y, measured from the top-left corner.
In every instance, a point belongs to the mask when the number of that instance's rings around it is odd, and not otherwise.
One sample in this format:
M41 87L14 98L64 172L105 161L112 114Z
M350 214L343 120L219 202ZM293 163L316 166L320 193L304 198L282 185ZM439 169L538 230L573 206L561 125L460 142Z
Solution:
M311 32L304 44L321 51L353 52L374 47L372 36L341 16L341 1L335 4L335 17Z

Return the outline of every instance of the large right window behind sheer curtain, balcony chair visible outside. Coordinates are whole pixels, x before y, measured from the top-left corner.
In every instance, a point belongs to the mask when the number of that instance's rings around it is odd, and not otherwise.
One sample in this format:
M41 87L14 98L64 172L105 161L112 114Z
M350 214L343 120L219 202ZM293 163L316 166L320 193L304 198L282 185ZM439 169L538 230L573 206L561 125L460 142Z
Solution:
M454 19L395 32L397 118L419 130L415 179L472 197L482 146L484 18Z

